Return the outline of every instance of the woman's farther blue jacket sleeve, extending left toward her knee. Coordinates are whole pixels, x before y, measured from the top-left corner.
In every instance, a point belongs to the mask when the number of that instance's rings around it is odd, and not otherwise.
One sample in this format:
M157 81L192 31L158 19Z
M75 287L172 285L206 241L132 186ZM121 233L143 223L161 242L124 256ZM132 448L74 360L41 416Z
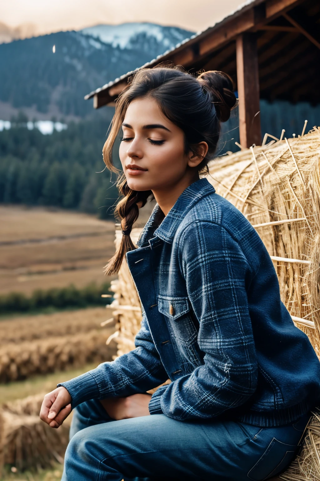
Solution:
M125 397L146 392L165 382L168 375L154 346L145 314L135 338L136 349L115 361L100 364L95 369L61 382L71 395L72 408L89 399Z

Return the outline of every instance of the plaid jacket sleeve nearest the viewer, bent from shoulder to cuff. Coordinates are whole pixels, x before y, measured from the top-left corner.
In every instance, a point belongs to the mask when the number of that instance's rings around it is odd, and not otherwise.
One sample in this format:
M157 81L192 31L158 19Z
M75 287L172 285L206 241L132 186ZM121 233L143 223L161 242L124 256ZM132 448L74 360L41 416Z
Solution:
M178 255L200 323L204 364L156 391L149 410L179 420L213 418L242 405L256 389L246 291L252 271L238 242L213 222L192 222L181 234Z

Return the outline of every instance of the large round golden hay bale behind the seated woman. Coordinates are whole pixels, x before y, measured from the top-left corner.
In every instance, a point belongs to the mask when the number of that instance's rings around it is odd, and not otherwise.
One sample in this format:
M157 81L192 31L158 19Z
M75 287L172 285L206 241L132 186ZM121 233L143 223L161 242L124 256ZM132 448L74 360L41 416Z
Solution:
M274 139L214 159L207 177L257 230L276 270L281 298L320 358L320 128L293 139ZM136 242L141 228L132 230ZM121 231L116 228L116 246ZM128 266L112 282L117 355L134 348L142 312ZM105 324L105 323L103 323ZM320 411L308 424L302 451L280 477L320 481ZM280 479L277 478L277 479Z

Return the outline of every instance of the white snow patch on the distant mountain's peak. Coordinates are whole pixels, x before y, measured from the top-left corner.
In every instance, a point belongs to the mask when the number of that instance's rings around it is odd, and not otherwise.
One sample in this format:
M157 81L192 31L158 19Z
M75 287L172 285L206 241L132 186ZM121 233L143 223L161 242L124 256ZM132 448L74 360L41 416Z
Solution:
M194 32L178 27L156 25L151 23L126 23L121 25L95 25L80 30L83 35L99 39L103 43L120 49L134 48L135 38L154 38L165 50L175 47L177 43L190 37Z

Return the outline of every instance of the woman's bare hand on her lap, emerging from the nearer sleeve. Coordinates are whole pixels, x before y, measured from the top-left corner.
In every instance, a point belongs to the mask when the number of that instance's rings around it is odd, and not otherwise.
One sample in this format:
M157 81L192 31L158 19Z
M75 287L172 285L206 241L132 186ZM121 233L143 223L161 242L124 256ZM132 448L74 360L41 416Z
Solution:
M112 419L129 419L149 416L150 394L133 394L128 397L111 397L102 399L100 403Z

